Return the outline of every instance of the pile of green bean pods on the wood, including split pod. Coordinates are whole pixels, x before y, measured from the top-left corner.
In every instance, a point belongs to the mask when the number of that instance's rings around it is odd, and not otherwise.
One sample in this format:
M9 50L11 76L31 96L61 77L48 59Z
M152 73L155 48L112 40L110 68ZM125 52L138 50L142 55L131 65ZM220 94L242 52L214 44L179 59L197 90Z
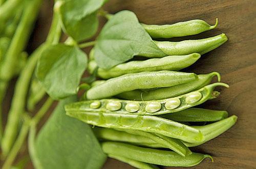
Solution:
M203 20L170 25L141 24L152 38L196 35L215 29ZM224 110L195 108L220 95L218 72L179 72L193 65L201 54L227 41L225 34L181 42L154 41L168 56L99 68L90 52L89 72L100 79L92 82L79 102L65 106L68 116L97 126L93 128L109 157L137 168L194 166L211 156L191 152L189 147L208 142L232 127L236 116ZM214 77L217 77L215 82ZM217 82L216 82L217 81ZM88 85L87 85L88 86ZM202 126L195 126L204 122ZM160 149L159 149L160 148Z

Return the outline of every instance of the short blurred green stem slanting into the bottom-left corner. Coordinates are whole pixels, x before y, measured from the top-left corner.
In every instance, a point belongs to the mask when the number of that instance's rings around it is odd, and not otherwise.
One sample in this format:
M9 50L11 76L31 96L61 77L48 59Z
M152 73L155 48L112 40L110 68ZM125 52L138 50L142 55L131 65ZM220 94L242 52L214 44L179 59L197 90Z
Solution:
M19 133L19 135L16 139L16 142L13 145L13 148L11 149L8 157L5 160L5 163L2 167L3 169L11 168L12 163L15 160L18 151L22 147L22 145L23 145L23 143L24 143L24 141L27 137L27 134L28 134L28 131L29 131L29 126L30 126L30 118L28 116L26 116L24 118L24 123L23 123L22 129L20 130L20 133Z

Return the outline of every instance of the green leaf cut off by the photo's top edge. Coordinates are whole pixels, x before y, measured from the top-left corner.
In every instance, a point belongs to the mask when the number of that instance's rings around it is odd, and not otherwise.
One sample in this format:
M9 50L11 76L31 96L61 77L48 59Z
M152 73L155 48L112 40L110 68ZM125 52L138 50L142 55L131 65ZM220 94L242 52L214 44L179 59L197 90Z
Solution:
M77 42L91 38L98 29L97 10L104 0L62 1L57 9L63 29Z

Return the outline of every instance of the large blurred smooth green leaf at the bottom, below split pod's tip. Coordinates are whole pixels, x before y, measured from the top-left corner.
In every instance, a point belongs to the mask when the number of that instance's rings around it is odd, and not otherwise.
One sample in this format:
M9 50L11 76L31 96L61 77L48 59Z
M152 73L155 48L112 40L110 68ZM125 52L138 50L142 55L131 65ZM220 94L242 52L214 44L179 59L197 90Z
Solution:
M35 140L35 156L42 168L98 169L106 159L91 127L66 116L64 105L73 101L76 98L60 101Z

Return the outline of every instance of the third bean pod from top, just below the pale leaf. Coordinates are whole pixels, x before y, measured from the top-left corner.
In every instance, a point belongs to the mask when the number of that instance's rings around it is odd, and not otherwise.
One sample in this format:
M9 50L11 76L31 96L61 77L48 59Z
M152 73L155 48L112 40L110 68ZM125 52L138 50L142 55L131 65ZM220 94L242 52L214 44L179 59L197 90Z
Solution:
M173 55L164 58L153 58L145 61L131 61L119 64L109 70L98 69L98 76L103 79L118 77L128 73L139 73L145 71L173 70L178 71L194 64L201 55L192 53L188 55ZM97 67L95 61L89 62L89 71L92 74Z

